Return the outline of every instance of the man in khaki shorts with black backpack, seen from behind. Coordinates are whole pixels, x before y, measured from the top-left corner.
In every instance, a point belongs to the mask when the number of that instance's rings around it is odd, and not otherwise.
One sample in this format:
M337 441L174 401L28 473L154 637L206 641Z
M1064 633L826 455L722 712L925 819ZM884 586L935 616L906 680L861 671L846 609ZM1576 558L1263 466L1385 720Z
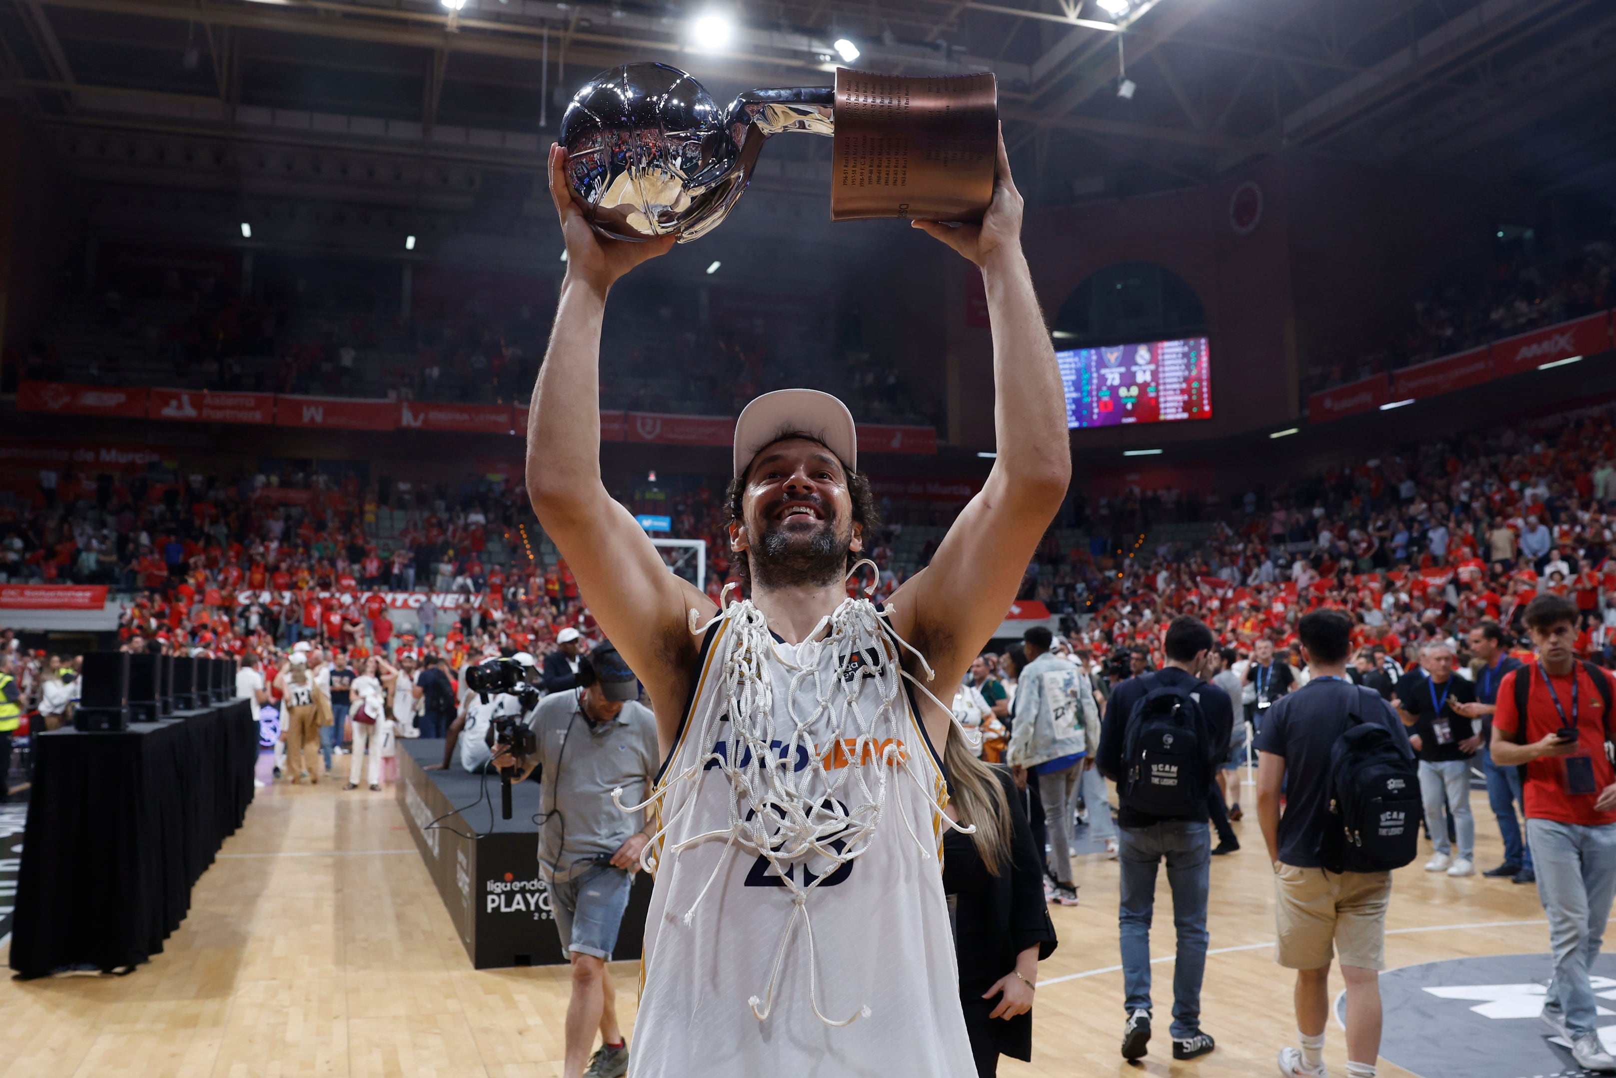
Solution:
M1277 952L1296 970L1301 1047L1280 1051L1280 1073L1324 1075L1333 955L1346 981L1346 1073L1374 1078L1387 902L1391 870L1419 852L1419 771L1398 713L1348 679L1351 619L1314 611L1296 630L1312 679L1277 701L1257 734L1257 819L1273 861Z

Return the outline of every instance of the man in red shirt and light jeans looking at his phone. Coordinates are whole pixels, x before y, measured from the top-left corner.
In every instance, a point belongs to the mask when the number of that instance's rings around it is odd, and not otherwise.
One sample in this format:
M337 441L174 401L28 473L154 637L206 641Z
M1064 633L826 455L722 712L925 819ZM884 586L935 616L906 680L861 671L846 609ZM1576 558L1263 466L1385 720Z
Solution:
M1571 1046L1584 1070L1616 1072L1616 1057L1595 1031L1589 983L1616 895L1616 771L1605 755L1616 679L1577 661L1571 600L1538 595L1527 606L1526 625L1537 663L1498 685L1492 750L1498 766L1526 768L1526 834L1555 952L1543 1025Z

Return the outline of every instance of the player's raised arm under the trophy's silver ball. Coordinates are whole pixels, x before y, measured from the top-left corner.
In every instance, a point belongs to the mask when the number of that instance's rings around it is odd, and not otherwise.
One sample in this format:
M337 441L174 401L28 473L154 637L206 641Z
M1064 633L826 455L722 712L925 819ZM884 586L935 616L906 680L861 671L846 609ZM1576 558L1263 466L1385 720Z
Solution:
M687 611L705 617L714 606L667 571L645 530L601 483L600 344L611 286L646 259L667 254L674 238L598 238L572 200L566 163L566 152L551 145L549 196L567 244L567 275L528 407L527 493L595 621L645 682L659 726L671 731L696 651Z

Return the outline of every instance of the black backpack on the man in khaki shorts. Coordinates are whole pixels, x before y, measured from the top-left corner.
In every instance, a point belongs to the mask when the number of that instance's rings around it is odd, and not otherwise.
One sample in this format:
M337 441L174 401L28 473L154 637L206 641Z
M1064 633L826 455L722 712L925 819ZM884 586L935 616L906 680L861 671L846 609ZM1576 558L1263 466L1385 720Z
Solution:
M1361 708L1369 706L1385 701L1357 687L1348 726L1330 748L1330 826L1320 860L1332 873L1388 873L1419 855L1419 768L1390 729L1364 719Z

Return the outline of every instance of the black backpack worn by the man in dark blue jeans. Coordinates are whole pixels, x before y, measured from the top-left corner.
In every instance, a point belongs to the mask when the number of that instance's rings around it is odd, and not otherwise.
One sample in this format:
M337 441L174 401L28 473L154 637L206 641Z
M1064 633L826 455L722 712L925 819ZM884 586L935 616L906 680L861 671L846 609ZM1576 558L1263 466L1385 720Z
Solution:
M1212 782L1212 735L1191 695L1201 682L1168 685L1154 674L1139 680L1146 693L1128 713L1118 800L1147 816L1196 816Z

